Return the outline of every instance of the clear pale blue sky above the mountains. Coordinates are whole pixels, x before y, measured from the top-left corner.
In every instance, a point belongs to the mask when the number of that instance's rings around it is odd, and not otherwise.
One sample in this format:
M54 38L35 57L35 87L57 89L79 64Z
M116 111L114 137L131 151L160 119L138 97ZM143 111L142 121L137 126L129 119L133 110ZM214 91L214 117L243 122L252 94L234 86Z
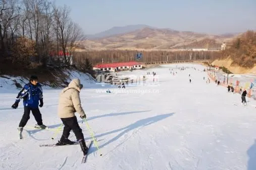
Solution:
M85 34L146 24L221 34L256 30L256 0L56 0L71 8Z

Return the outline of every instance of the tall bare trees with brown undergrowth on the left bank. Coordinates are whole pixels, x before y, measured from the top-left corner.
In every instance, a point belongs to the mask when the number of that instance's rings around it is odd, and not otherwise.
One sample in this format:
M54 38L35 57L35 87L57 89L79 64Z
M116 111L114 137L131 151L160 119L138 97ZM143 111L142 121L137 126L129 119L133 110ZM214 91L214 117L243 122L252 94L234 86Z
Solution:
M49 59L69 64L83 38L70 11L47 0L0 0L0 68L38 68ZM54 57L59 51L61 59Z

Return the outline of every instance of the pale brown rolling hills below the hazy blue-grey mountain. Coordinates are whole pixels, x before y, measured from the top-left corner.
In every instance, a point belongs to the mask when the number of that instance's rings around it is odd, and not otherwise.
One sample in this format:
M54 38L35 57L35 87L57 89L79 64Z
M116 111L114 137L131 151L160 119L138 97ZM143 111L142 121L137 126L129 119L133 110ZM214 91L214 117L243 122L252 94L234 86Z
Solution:
M172 29L143 28L129 33L112 35L94 40L83 40L79 46L84 49L173 49L186 46L200 46L208 40L209 48L220 47L237 34L210 35L195 32L180 32Z

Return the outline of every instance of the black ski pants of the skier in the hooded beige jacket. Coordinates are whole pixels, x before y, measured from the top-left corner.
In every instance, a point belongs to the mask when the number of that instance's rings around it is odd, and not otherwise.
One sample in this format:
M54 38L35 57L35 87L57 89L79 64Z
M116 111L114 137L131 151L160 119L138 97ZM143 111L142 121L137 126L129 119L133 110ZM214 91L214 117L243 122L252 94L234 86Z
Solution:
M82 129L79 127L77 118L72 117L72 118L61 118L62 123L64 124L64 129L63 129L63 136L65 138L68 138L70 135L70 131L72 130L74 134L76 135L77 141L80 139L84 139Z

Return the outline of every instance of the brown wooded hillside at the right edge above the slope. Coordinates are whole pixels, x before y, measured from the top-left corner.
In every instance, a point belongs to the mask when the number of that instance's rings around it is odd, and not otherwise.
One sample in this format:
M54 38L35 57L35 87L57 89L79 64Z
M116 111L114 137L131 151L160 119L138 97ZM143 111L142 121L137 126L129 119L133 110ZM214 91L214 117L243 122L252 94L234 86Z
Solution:
M224 50L221 59L230 57L232 65L251 68L256 64L256 32L247 31L234 39L231 46Z

